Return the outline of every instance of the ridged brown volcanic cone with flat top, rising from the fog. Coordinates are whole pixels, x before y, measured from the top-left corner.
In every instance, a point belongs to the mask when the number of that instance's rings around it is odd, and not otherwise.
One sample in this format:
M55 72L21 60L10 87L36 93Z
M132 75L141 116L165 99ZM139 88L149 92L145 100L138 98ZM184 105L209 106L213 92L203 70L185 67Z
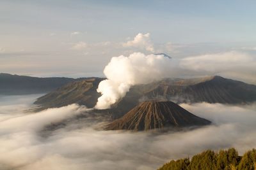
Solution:
M189 127L211 124L171 101L145 101L122 118L106 125L106 130L147 131L164 127Z

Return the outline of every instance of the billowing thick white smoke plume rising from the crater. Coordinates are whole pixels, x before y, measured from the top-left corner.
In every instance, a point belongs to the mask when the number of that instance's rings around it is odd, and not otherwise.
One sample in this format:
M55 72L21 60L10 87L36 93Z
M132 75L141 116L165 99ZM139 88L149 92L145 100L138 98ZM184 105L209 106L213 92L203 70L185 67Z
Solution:
M170 76L173 65L171 61L164 55L144 53L113 57L104 69L108 80L99 83L97 92L102 96L99 97L95 108L110 108L111 104L125 96L132 85L150 83Z

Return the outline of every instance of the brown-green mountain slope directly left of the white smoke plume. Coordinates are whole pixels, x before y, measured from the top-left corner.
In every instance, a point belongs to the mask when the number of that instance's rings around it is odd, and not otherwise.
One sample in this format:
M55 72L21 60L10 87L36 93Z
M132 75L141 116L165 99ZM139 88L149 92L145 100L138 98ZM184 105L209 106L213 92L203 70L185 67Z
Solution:
M100 94L97 92L99 82L104 78L88 78L70 82L67 85L39 97L34 104L38 104L36 111L45 108L59 108L68 104L77 103L93 108Z

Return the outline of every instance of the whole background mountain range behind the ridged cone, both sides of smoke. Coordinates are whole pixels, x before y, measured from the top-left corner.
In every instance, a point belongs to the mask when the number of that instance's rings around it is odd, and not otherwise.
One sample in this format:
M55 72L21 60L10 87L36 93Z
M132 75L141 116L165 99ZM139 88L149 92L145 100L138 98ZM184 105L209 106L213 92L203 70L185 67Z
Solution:
M0 74L0 94L40 94L36 111L77 103L93 108L100 94L99 82L104 78L36 78ZM256 85L221 76L203 78L166 78L148 84L135 85L126 96L111 106L108 112L120 118L142 101L174 101L175 103L244 104L256 101Z

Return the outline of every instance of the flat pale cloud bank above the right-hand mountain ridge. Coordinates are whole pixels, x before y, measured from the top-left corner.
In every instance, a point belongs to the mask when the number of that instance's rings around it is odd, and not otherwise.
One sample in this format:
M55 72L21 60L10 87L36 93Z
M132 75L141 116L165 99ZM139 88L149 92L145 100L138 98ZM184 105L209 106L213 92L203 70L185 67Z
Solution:
M198 74L220 74L229 78L256 82L256 57L244 52L223 52L185 57L180 68ZM194 71L194 72L193 72Z

